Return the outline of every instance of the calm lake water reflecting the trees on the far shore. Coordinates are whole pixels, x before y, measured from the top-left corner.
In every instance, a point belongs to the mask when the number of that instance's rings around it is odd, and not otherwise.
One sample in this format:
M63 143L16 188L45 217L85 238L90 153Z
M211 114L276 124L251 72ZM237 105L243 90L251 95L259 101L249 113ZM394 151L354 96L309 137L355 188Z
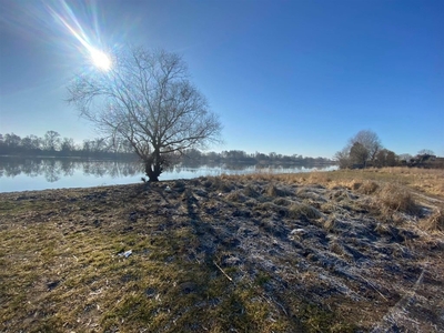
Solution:
M259 167L259 165L175 165L160 180L192 179L201 175L248 173L294 173L330 171L337 167ZM143 168L138 162L77 159L0 158L0 192L46 189L90 188L140 183Z

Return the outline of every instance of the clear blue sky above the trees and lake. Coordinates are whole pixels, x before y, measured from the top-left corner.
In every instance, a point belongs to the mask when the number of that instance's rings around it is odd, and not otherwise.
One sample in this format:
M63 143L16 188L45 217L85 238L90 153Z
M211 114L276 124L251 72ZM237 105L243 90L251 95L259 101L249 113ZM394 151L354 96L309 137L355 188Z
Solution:
M64 6L63 6L64 3ZM0 133L81 142L68 105L90 42L179 52L220 114L223 145L331 158L360 130L396 153L444 155L444 1L0 0ZM52 12L52 14L51 14Z

